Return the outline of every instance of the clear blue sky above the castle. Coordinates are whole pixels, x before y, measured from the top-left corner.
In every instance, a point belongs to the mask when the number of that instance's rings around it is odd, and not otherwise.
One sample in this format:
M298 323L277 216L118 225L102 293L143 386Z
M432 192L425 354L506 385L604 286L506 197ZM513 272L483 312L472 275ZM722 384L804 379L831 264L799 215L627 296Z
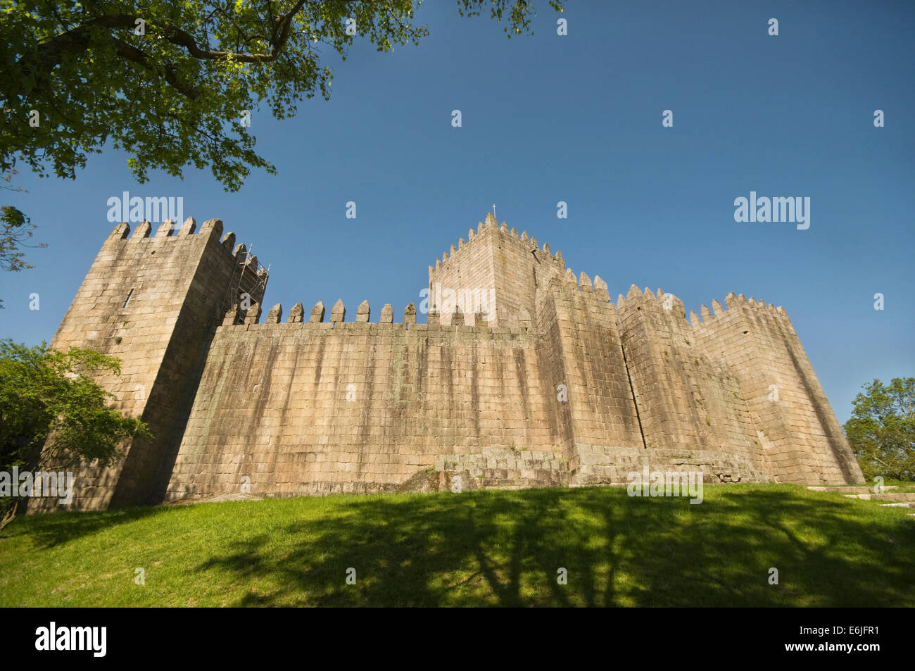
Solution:
M507 39L435 0L419 47L329 61L330 102L253 115L279 175L253 172L238 193L193 168L139 185L113 150L75 181L20 175L29 192L5 202L49 246L0 276L0 336L50 341L124 190L221 218L271 267L265 307L342 298L354 319L368 299L372 320L418 304L426 266L495 203L613 297L636 283L687 310L729 291L784 306L842 422L861 384L915 374L915 3L573 1L567 37L537 5L533 37ZM735 222L750 190L810 197L810 228Z

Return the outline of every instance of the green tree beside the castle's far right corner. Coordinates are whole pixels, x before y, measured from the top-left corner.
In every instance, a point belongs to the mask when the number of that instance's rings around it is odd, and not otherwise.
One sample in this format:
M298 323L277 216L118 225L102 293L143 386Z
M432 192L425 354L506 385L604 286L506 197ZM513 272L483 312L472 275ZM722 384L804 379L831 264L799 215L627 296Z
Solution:
M915 480L915 377L865 384L845 435L868 480Z

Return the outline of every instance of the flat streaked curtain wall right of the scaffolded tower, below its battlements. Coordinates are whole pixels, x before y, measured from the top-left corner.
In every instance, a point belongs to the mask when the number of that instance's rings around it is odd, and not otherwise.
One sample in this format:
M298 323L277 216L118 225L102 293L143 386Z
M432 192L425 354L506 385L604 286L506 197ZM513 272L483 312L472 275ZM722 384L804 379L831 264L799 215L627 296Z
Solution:
M527 330L222 326L167 498L385 492L441 454L548 449L565 431ZM551 399L553 402L551 402Z

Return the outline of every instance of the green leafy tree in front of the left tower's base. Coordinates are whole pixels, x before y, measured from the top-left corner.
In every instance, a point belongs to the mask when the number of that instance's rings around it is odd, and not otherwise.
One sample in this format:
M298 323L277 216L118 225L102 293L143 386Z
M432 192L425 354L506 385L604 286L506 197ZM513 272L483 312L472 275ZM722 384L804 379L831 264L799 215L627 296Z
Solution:
M143 421L106 405L114 395L92 377L110 373L120 362L106 354L0 341L0 471L109 466L122 441L148 436ZM0 516L16 503L0 500Z

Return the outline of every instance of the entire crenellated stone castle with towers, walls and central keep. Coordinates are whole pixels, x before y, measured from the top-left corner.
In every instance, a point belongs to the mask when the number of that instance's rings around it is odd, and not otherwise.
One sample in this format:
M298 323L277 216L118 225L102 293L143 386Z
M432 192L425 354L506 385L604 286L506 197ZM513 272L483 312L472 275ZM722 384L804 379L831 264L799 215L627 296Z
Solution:
M339 301L262 321L266 269L221 220L196 228L116 226L54 337L119 357L99 382L153 434L78 471L71 507L612 484L645 465L864 480L782 308L728 294L687 320L635 286L614 302L490 213L429 266L427 324Z

